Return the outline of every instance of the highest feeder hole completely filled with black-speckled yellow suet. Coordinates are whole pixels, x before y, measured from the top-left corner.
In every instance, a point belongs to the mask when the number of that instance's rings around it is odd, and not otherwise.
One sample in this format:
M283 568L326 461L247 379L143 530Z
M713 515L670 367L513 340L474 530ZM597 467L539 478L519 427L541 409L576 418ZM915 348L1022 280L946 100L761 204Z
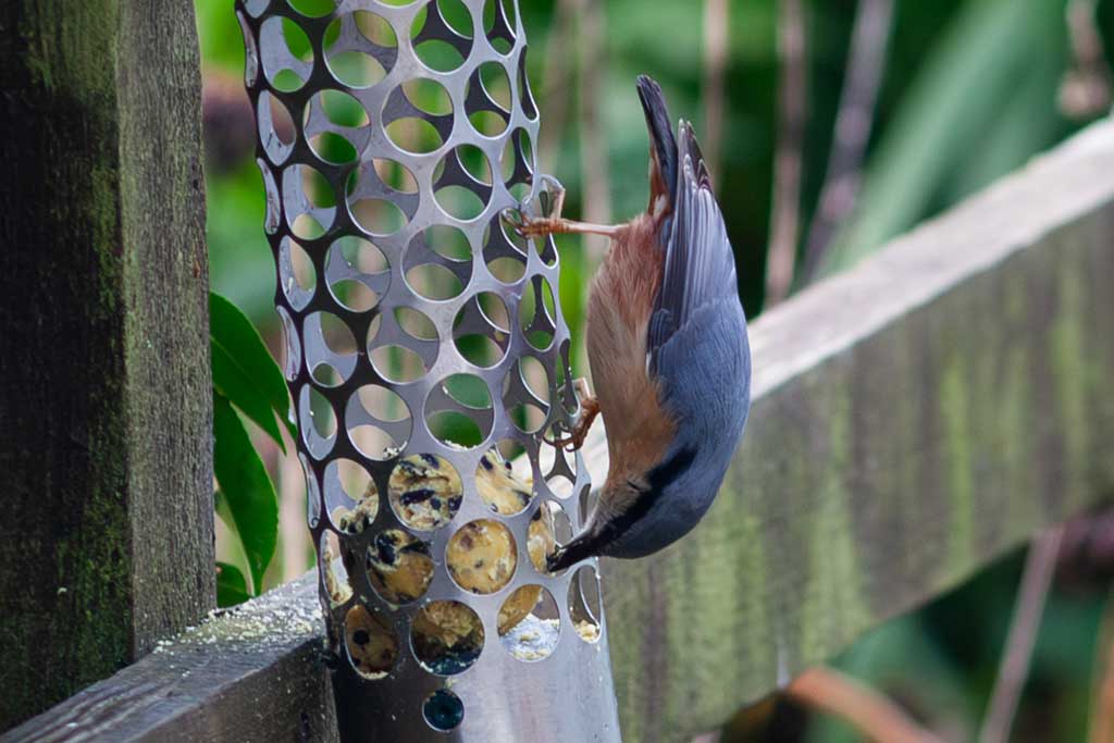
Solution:
M399 520L412 529L432 531L457 515L465 490L449 460L414 454L394 466L388 492Z

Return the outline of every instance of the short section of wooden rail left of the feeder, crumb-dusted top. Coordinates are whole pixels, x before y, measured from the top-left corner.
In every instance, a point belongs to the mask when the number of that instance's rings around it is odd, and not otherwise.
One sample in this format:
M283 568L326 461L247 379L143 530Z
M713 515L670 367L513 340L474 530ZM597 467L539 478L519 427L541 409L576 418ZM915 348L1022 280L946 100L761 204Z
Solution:
M2 741L331 741L313 575L160 644Z

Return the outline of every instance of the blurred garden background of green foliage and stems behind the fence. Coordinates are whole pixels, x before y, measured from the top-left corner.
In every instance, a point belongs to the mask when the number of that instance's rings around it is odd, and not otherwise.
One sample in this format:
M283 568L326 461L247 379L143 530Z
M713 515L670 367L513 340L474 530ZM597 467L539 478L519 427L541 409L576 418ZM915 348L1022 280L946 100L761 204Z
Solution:
M300 0L312 2L313 0ZM438 0L447 17L459 0ZM753 319L843 268L1110 110L1104 47L1114 1L522 0L541 111L540 168L565 213L626 219L645 207L646 131L634 91L657 78L694 121ZM196 0L205 76L208 244L214 291L274 353L274 265L231 0ZM605 245L558 238L560 300L582 336ZM585 368L583 352L574 359ZM265 587L313 564L293 457L253 439L280 497ZM290 447L287 447L290 449ZM1114 548L1104 518L1066 532L1015 724L1017 741L1086 740L1108 649L1100 642ZM218 535L221 559L242 564ZM1024 553L864 637L833 666L899 703L944 740L970 740L997 675ZM771 700L723 740L854 741L832 716Z

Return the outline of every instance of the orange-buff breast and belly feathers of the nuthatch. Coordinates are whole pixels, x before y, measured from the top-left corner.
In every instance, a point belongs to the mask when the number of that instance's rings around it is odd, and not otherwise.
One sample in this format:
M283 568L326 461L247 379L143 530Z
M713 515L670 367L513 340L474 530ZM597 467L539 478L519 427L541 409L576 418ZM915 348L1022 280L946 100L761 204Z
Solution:
M615 236L588 300L588 361L607 424L608 482L644 476L673 439L674 423L646 370L646 327L663 268L654 228L641 216Z

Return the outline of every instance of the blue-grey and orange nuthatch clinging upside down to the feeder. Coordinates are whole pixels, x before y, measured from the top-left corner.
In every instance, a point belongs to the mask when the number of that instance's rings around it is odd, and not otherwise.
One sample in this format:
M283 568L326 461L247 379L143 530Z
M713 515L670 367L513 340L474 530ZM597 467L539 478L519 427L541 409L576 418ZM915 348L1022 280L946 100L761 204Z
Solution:
M649 205L623 225L520 217L519 232L612 239L588 300L596 397L568 439L607 421L610 467L585 529L549 558L642 557L696 526L723 481L750 409L751 353L735 260L692 125L674 137L662 89L638 78L649 129ZM678 143L680 139L680 143Z

